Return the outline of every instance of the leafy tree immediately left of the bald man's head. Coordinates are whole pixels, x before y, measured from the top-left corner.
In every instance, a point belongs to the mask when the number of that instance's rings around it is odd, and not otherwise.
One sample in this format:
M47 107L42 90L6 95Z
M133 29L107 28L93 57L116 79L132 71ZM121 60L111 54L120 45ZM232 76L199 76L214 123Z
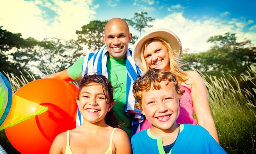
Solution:
M83 25L82 30L76 30L78 35L77 41L89 46L92 51L97 51L104 45L102 36L104 35L104 27L108 21L93 20L89 24Z

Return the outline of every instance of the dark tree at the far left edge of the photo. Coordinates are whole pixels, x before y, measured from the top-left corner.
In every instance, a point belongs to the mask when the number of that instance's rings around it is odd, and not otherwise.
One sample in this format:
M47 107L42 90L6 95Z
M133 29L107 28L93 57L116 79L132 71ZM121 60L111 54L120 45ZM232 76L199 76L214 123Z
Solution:
M35 57L33 38L23 39L20 33L13 34L0 27L0 70L15 76L29 72L29 61Z

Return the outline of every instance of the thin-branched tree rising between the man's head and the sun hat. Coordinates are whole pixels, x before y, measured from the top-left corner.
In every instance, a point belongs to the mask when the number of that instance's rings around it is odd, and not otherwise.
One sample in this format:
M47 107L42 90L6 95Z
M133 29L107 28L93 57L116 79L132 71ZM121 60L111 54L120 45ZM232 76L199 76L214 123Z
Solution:
M132 19L124 19L128 23L128 25L132 26L135 30L139 32L141 36L141 32L144 32L145 28L151 28L153 25L148 25L148 22L153 22L155 19L152 17L146 17L148 15L146 12L134 13L134 17ZM131 43L134 44L138 39L138 36L132 36Z

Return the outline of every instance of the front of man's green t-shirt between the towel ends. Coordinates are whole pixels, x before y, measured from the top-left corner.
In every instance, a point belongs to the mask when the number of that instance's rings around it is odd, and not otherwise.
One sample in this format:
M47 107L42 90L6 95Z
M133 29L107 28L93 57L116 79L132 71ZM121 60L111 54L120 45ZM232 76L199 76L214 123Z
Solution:
M113 87L118 87L114 90L115 105L113 109L120 124L124 124L122 128L128 136L132 133L132 118L125 114L126 106L126 59L113 59L108 56L108 79Z

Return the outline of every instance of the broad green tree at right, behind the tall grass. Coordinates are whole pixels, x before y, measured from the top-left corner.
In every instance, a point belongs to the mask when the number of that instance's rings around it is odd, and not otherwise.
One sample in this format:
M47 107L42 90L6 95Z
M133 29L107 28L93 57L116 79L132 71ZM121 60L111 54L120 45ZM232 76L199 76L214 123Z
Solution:
M207 42L214 43L207 52L182 55L185 69L193 67L207 75L224 75L229 81L235 77L243 82L241 75L247 74L250 66L256 66L256 47L249 40L236 42L235 34L225 33L210 37Z

